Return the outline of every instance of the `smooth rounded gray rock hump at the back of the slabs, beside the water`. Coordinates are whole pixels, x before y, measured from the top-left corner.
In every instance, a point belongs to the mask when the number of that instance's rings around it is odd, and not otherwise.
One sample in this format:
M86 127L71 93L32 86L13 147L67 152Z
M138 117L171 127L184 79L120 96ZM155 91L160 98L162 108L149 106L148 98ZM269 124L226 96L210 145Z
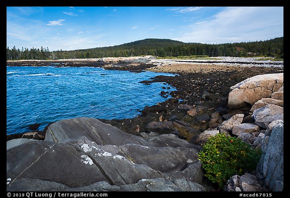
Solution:
M148 145L141 137L124 133L110 124L96 118L78 117L64 119L49 125L45 140L66 143L86 137L99 145L123 145L128 143Z

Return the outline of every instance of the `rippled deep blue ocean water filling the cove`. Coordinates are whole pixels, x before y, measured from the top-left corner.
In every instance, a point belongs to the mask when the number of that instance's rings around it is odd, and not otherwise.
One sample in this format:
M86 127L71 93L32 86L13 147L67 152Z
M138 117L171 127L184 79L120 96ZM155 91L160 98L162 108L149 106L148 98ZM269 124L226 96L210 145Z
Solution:
M7 67L7 135L30 131L28 126L88 116L132 118L145 106L163 102L163 83L140 81L172 74L104 70L93 67ZM173 91L170 88L166 91Z

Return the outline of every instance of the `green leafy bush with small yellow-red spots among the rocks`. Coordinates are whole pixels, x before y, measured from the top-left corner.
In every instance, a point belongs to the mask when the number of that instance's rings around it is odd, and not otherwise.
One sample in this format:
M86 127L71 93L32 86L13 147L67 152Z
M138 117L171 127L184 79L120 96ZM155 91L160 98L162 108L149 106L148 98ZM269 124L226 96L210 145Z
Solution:
M226 134L217 134L207 141L198 158L205 170L204 176L223 188L233 175L242 175L256 169L261 150Z

